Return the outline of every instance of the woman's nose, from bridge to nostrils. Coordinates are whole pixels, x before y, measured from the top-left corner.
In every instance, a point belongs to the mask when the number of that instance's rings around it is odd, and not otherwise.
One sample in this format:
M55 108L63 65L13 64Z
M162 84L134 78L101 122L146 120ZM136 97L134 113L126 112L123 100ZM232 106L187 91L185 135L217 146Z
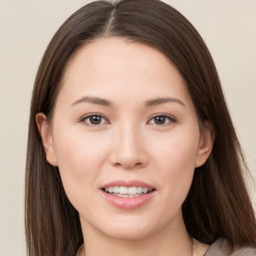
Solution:
M110 163L125 169L141 168L148 164L144 139L138 128L118 128L114 134Z

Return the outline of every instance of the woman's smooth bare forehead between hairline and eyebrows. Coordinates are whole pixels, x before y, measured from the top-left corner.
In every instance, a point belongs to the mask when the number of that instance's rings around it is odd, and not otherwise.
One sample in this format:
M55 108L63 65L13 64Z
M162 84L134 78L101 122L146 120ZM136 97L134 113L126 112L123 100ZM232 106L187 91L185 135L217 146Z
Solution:
M96 93L100 97L132 93L151 97L187 95L182 76L158 49L120 38L102 38L83 45L68 61L60 94L69 98ZM173 95L170 95L173 96Z

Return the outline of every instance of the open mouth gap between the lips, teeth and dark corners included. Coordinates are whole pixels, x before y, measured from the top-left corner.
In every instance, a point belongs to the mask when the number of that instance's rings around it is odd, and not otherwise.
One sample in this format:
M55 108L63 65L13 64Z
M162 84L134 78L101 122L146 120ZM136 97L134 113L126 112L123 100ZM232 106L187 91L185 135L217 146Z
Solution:
M124 198L132 198L141 195L145 195L147 193L155 190L154 188L148 188L143 186L108 186L102 188L105 193L112 194L119 197Z

